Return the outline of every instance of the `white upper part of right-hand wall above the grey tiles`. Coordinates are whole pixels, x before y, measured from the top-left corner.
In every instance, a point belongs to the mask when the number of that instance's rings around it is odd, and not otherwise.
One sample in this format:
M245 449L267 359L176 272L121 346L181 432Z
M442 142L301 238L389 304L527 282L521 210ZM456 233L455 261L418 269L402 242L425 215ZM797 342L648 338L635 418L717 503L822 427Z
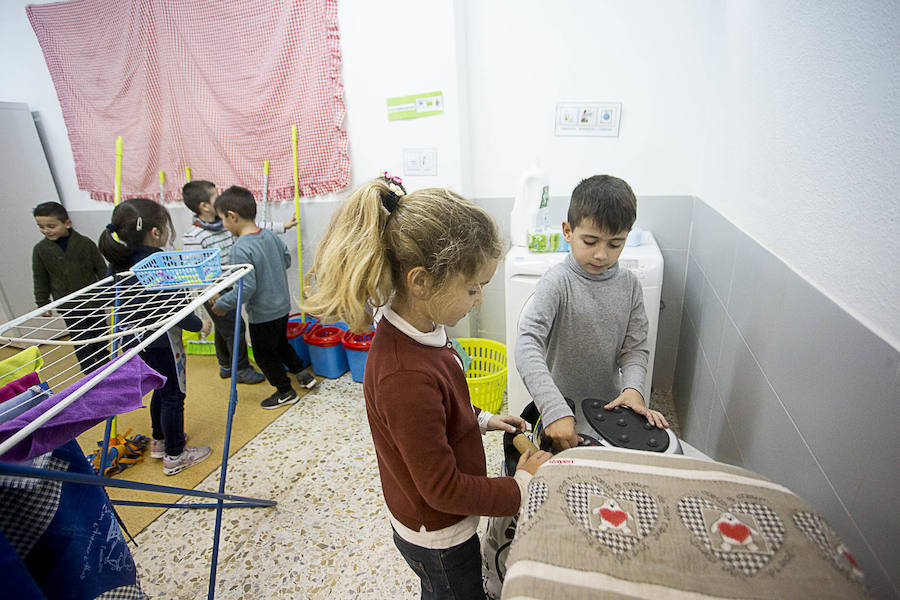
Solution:
M730 1L696 195L900 348L900 8Z

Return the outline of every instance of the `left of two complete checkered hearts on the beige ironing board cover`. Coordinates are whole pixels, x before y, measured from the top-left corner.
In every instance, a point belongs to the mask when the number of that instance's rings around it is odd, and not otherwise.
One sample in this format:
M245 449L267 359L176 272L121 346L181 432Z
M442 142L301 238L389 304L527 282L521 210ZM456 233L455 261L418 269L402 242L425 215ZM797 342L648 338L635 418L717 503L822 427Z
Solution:
M617 555L647 537L659 517L656 500L637 489L614 491L582 481L566 489L565 500L576 521Z

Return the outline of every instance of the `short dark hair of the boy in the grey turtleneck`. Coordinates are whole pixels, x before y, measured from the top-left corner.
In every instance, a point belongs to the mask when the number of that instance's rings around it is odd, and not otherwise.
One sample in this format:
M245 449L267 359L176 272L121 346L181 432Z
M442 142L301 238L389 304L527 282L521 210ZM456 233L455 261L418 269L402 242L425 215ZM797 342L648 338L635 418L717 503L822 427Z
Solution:
M624 180L594 175L575 186L567 218L573 229L589 219L609 233L628 231L637 219L637 198Z

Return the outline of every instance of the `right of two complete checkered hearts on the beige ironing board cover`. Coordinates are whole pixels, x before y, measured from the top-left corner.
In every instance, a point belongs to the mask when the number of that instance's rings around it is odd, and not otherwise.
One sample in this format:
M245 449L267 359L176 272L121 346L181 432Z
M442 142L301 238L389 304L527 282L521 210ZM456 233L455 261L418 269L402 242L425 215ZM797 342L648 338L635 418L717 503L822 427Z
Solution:
M763 504L721 507L706 498L685 496L678 501L678 515L708 554L744 575L758 573L784 543L784 523Z

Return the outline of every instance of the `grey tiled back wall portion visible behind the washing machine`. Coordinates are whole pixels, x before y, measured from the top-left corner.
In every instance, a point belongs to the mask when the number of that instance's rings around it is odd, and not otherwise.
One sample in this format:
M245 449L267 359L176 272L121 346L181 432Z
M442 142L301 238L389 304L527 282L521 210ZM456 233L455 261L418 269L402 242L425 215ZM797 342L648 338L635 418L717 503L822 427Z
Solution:
M512 198L482 198L476 200L497 221L500 231L509 235L509 213ZM675 372L675 357L681 326L681 302L684 295L688 242L691 231L690 196L640 196L635 227L652 231L665 261L659 331L656 337L656 359L653 367L653 388L669 390ZM562 223L569 199L553 197L550 201L551 222ZM480 337L506 342L506 312L504 298L503 263L484 289L484 303L477 315Z

